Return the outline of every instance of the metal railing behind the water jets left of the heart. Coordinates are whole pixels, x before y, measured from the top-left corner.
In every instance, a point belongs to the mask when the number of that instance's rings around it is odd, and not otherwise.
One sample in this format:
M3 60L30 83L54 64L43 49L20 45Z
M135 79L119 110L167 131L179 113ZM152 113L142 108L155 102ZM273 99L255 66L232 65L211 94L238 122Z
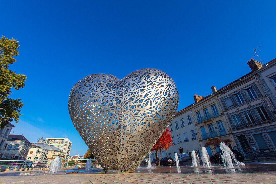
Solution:
M88 159L61 160L61 169L74 169L78 164L78 169L84 169ZM46 160L0 160L0 171L26 171L50 169L52 161ZM100 168L96 159L91 159L91 168Z

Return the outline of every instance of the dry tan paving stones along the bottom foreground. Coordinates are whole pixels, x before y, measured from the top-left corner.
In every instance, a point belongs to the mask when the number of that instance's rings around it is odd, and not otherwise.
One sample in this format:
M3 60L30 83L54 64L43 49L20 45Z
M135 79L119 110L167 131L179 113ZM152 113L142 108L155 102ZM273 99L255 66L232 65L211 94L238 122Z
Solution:
M164 183L276 183L276 172L227 174L125 173L0 176L0 183L28 184L164 184Z

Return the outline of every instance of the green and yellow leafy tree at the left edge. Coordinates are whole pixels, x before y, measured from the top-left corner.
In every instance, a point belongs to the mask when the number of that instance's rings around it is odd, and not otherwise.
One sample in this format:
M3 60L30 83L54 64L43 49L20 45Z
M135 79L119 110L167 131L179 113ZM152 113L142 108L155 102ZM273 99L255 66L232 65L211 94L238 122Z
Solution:
M17 62L14 56L19 55L18 47L18 41L13 38L8 39L3 35L0 39L0 129L7 126L9 122L18 123L19 116L22 115L20 114L23 106L22 99L9 98L12 93L11 88L16 90L23 88L26 80L25 75L9 70L9 65Z

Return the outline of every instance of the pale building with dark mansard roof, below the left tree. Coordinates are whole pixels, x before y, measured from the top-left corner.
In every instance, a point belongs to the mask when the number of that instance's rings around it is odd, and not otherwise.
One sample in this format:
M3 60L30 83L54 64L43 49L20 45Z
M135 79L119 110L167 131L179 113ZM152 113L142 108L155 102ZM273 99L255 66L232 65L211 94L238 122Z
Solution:
M3 147L3 159L25 160L31 143L23 135L9 135Z

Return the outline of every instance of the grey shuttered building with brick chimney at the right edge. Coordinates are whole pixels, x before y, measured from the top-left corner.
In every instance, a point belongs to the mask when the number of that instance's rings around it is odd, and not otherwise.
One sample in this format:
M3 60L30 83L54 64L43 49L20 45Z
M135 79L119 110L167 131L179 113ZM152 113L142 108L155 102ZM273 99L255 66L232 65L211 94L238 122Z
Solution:
M237 149L246 158L276 156L276 59L248 61L251 72L217 90Z

